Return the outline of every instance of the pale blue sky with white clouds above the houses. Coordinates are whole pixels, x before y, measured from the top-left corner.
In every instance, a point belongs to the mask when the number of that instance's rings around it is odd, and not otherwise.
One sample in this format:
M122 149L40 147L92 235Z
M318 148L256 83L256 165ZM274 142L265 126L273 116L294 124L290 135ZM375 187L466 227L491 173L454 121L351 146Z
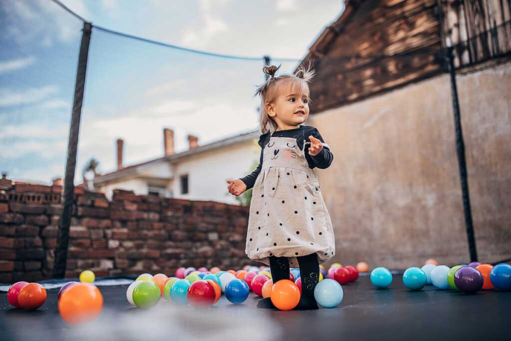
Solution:
M263 56L292 72L342 0L61 0L93 25L188 49L260 57L239 60L165 48L93 29L75 171L98 171L163 155L163 129L175 151L187 135L208 144L258 128L255 89ZM0 2L0 171L51 184L64 176L83 23L51 0ZM314 94L311 94L314 99ZM311 108L313 110L313 108Z

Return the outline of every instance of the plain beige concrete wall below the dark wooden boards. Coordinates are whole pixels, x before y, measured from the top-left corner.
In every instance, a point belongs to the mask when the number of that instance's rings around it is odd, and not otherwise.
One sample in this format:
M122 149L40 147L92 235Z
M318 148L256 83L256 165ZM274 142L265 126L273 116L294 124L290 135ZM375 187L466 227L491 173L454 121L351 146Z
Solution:
M511 62L457 75L479 260L511 256ZM314 94L311 94L314 96ZM449 76L312 115L336 259L406 268L469 261Z

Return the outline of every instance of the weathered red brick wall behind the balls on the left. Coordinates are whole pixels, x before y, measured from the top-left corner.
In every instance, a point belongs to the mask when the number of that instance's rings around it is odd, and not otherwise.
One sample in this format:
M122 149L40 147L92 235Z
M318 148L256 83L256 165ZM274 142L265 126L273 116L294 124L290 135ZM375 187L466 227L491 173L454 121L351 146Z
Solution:
M2 193L4 192L4 193ZM0 192L0 282L50 279L62 212L61 187L16 184ZM174 274L180 266L239 268L248 208L75 188L66 278Z

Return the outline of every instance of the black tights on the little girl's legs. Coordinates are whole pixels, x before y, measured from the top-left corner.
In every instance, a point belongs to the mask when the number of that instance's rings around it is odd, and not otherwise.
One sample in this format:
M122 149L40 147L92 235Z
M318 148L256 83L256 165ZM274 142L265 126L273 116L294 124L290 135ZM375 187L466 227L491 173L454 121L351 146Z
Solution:
M270 256L271 278L273 283L289 279L289 260L287 257ZM314 288L319 282L319 262L317 254L296 257L300 266L301 294L314 297Z

